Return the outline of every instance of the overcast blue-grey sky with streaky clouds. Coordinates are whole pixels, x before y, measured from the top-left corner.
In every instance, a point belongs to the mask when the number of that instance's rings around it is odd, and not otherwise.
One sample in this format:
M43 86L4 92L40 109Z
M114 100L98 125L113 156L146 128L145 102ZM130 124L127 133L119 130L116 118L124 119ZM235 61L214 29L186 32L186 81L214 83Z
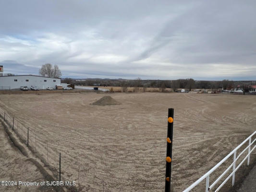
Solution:
M0 65L62 77L256 80L255 0L0 0Z

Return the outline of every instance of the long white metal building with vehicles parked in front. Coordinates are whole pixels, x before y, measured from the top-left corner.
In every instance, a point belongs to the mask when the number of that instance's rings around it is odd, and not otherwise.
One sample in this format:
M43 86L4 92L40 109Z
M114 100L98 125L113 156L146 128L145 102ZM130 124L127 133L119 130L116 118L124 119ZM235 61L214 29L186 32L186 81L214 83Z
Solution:
M21 86L36 85L39 89L52 87L56 89L57 84L61 84L60 78L42 77L37 75L15 75L15 76L0 76L0 89L20 89Z

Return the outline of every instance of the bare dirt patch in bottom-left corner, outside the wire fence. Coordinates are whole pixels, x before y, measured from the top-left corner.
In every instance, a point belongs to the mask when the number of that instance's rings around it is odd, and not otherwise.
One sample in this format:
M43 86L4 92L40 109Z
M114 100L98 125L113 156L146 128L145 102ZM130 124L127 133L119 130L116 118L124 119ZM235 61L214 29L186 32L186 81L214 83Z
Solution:
M25 186L22 182L45 181L37 167L12 144L0 123L0 181L13 181L11 186L0 186L1 192L52 192L51 187ZM10 184L9 184L10 185Z

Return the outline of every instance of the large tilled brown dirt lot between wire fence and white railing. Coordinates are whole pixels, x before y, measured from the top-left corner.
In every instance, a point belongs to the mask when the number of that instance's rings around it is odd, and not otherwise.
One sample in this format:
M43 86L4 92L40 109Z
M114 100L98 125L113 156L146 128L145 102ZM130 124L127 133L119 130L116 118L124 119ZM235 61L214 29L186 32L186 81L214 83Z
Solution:
M94 106L110 95L121 105ZM80 191L162 192L168 108L174 108L172 191L200 178L256 130L256 97L193 93L1 95L31 145ZM16 124L15 124L16 125ZM25 131L26 129L24 129ZM25 133L20 132L25 138ZM254 155L251 159L255 158ZM224 166L227 167L226 164ZM78 178L78 168L80 170ZM218 169L210 183L222 173ZM241 173L242 174L242 173ZM239 179L237 174L236 179ZM242 175L241 175L242 177ZM228 183L231 185L231 181ZM195 188L201 192L205 181Z

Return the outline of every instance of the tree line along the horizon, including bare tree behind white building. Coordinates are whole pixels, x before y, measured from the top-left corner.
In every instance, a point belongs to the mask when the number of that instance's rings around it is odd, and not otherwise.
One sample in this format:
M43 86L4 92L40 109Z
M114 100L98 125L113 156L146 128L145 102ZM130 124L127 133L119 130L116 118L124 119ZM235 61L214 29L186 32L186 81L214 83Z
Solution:
M50 63L46 63L42 65L39 70L39 74L42 76L60 78L61 70L58 65L52 65ZM11 73L8 75L12 75ZM93 86L94 84L101 84L101 86L121 86L123 89L126 87L154 87L160 88L162 91L165 88L172 88L173 91L177 89L188 89L191 91L192 89L233 89L238 84L241 85L241 88L246 92L249 89L250 82L234 82L228 79L224 79L222 81L195 81L192 78L188 79L177 79L177 80L142 80L140 77L134 80L123 80L123 79L113 79L113 80L105 80L105 79L86 79L84 81L75 81L72 78L61 79L61 83L67 84L78 84L78 85L89 85ZM251 82L252 84L252 82Z

